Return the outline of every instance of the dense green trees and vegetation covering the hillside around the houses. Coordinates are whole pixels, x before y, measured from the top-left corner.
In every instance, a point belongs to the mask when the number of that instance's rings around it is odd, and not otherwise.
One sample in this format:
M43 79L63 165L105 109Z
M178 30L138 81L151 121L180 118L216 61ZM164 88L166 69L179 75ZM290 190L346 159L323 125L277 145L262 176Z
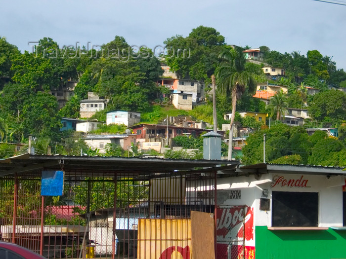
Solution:
M106 120L107 111L119 109L140 111L141 122L145 123L160 123L167 116L177 115L189 115L196 120L213 123L209 96L206 102L192 111L177 110L169 105L167 88L156 85L157 79L163 74L161 63L166 63L178 78L204 81L207 92L210 90L208 85L211 75L217 75L218 127L222 123L229 123L223 119L223 114L234 111L232 121L236 125L256 129L254 136L259 136L263 131L272 131L272 128L261 129L260 122L250 117L241 118L236 111L269 113L275 121L281 120L290 107L308 110L311 119L305 121L305 127L339 128L339 140L325 140L326 143L312 141L312 136L305 143L305 135L301 135L304 134L303 129L302 132L289 133L287 136L274 133L271 136L268 132L271 147L279 145L275 150L280 151L268 149L267 160L331 164L329 160L322 161L317 151L319 147L327 145L331 148L324 148L323 155L342 161L345 153L346 93L329 88L331 85L346 87L346 72L338 69L331 57L323 56L318 50L309 50L304 55L299 51L280 53L261 46L263 60L258 64L249 63L244 60L244 48L225 44L224 37L216 29L204 26L193 29L187 37L169 37L164 43L168 52L165 56L161 54L156 57L149 48L131 48L125 38L120 36L103 44L99 50L59 46L52 38L43 37L33 53L21 53L16 46L0 37L0 141L7 143L0 145L0 157L24 152L15 151L15 146L9 143L28 143L30 135L33 136L33 147L40 154L47 153L49 145L51 153L100 155L98 150L87 147L81 134L59 131L61 117L80 116L80 101L87 98L88 91L110 100L106 110L93 116L100 121ZM283 68L286 76L275 81L268 80L261 70L265 64ZM267 80L288 87L288 94L278 93L268 106L252 97L255 83ZM59 89L69 81L77 82L75 95L59 111L56 98L50 91ZM304 86L317 88L320 92L308 95ZM104 126L93 133L105 132L124 133L125 127ZM262 161L260 152L256 153L259 147L252 140L254 136L249 138L249 144L244 148L246 163ZM292 152L295 138L299 138L299 145L305 143L308 148L304 148L308 151ZM225 147L222 152L225 153ZM110 146L107 147L106 155L129 154L119 147Z

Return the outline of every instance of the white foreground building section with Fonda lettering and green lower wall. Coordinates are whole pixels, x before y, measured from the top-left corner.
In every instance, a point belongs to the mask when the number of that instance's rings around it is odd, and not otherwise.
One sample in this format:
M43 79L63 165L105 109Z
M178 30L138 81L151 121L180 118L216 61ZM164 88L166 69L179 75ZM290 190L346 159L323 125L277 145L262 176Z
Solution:
M341 258L345 253L340 247L346 229L343 168L257 164L235 174L217 180L217 257Z

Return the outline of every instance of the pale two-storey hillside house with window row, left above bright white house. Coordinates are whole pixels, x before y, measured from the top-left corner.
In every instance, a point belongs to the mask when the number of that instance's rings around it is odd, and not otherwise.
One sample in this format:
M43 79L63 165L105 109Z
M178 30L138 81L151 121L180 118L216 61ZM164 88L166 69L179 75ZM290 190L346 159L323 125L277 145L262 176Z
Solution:
M93 92L87 93L87 99L81 102L80 114L82 118L90 118L96 113L96 111L102 111L105 109L108 100L100 99L98 95Z

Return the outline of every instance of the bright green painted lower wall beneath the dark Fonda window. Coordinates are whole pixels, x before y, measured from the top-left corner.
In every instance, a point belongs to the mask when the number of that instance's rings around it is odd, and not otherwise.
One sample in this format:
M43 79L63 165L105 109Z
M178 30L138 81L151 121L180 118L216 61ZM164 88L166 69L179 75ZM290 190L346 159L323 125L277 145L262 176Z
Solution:
M256 259L346 259L346 230L256 226Z

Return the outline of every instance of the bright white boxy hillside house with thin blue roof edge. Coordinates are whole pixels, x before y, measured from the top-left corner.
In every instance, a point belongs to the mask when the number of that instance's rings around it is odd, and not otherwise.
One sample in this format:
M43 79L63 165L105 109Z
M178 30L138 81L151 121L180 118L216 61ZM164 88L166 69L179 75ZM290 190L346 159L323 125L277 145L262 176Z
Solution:
M107 112L107 125L110 124L124 124L127 127L140 122L140 112L135 111L108 111Z

